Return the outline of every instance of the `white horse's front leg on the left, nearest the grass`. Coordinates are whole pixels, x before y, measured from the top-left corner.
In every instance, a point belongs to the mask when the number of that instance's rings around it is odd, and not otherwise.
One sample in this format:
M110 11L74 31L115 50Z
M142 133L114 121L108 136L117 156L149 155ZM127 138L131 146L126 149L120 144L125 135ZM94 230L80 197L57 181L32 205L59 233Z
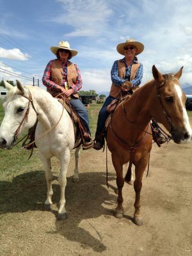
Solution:
M40 152L40 159L45 167L45 179L47 181L47 199L45 200L44 208L46 211L51 210L52 205L52 171L51 171L51 159L47 158Z

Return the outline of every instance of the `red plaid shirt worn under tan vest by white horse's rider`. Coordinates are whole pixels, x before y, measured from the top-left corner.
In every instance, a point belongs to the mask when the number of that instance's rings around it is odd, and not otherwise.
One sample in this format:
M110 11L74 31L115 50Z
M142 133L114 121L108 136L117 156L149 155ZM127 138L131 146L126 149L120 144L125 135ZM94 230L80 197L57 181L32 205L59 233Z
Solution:
M49 89L52 90L56 87L56 83L50 80L51 78L51 67L52 67L52 62L54 60L49 61L47 64L47 67L45 68L44 71L44 76L42 78L42 83ZM68 61L67 61L68 62ZM63 67L63 79L61 82L61 86L65 88L65 82L67 82L67 62L64 64L62 61L62 67ZM74 64L77 70L77 79L76 79L76 84L74 86L70 86L74 90L74 93L78 92L82 88L82 79L81 79L81 74L80 70L77 67L77 64Z

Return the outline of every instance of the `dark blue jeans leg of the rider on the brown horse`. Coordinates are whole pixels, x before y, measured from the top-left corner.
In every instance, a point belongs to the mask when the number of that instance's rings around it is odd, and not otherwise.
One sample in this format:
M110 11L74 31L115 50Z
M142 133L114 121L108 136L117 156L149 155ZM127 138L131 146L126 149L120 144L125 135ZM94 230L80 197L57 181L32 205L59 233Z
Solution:
M114 100L115 98L111 97L110 95L107 97L106 101L104 102L102 108L99 111L99 116L98 116L98 120L97 120L97 131L95 133L96 134L100 134L101 132L103 132L104 130L104 126L106 123L106 120L109 116L109 113L107 111L107 106L111 103L112 100Z

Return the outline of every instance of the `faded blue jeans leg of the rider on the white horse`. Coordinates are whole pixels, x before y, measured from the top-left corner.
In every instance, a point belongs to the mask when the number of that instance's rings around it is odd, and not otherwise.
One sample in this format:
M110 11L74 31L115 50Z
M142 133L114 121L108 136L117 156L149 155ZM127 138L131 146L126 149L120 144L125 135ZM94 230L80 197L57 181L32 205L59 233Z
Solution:
M86 129L86 132L88 132L91 135L90 127L89 127L88 112L87 112L85 106L83 105L83 103L81 102L81 100L79 100L77 98L76 99L71 99L70 104L72 104L75 111L79 115L79 118L83 122L83 125Z

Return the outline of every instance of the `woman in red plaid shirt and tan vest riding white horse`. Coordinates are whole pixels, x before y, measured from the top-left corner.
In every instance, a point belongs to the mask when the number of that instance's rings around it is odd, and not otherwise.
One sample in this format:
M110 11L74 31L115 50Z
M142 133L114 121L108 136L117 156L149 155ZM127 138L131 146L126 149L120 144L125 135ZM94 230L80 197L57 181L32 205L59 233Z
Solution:
M77 94L82 87L80 70L76 64L69 61L73 56L77 55L77 51L70 49L67 41L61 41L58 47L52 46L51 51L56 55L57 59L51 60L47 64L42 83L47 87L47 92L51 93L53 97L62 93L65 97L71 98L70 104L74 107L86 129L83 149L91 148L93 141L88 113Z

